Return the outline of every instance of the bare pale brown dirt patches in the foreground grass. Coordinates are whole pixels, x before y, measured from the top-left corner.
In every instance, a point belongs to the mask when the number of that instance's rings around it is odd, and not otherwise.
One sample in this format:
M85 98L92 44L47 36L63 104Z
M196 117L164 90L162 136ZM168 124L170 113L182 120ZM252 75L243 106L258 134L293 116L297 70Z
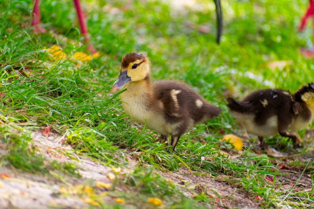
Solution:
M75 185L82 185L88 182L92 187L97 182L102 182L104 185L112 184L112 180L108 177L112 173L112 168L102 165L90 158L77 158L75 160L66 155L67 152L72 152L69 145L60 143L60 136L46 137L42 133L33 133L32 139L35 146L40 150L46 159L57 160L57 162L71 162L81 174L81 178L73 176L59 176L55 175L37 175L30 174L16 170L13 167L0 167L0 208L3 209L26 209L26 208L87 208L89 204L93 204L86 196L78 192L78 187ZM0 144L0 154L4 153L4 144ZM138 161L132 156L126 156L128 163L126 167L122 168L120 175L124 173L133 173ZM122 159L121 159L122 160ZM48 163L48 162L47 162ZM124 163L122 163L124 164ZM283 167L291 175L285 175L282 178L283 187L289 187L299 178L299 174L289 168ZM219 203L213 206L216 209L222 208L242 208L255 209L261 208L260 202L252 197L246 191L237 189L236 187L228 185L224 180L224 176L212 178L210 175L193 175L187 168L182 167L175 172L161 172L155 169L160 176L171 180L177 184L177 188L188 197L193 197L197 193L205 193L210 197L222 197L223 206ZM53 173L52 173L53 174ZM119 175L117 175L119 178ZM85 182L85 183L84 183ZM182 187L182 182L188 184ZM303 175L299 181L300 186L308 185L311 182L311 176ZM72 188L70 190L69 188ZM74 188L74 189L73 189ZM76 188L76 189L75 189ZM193 188L193 189L187 189ZM282 188L284 189L284 188ZM298 189L296 186L295 189ZM309 188L310 189L310 188ZM64 190L67 190L68 195L64 195ZM116 185L116 191L125 191L121 185ZM106 186L98 188L98 193L106 192ZM63 194L63 195L62 195ZM104 195L101 201L107 204L114 204L116 200L114 197ZM127 208L127 207L126 207Z

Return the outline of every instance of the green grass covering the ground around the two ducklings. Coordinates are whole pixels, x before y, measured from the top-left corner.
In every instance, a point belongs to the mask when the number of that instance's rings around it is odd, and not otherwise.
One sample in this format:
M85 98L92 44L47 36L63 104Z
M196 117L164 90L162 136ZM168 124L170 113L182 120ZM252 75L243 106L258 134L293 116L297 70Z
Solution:
M0 3L4 5L0 9L0 136L7 150L1 159L4 165L28 172L56 169L74 174L72 165L47 167L45 159L35 154L36 148L29 146L31 132L44 131L51 125L50 131L64 135L76 154L103 164L123 166L119 157L136 156L137 169L125 175L123 182L116 182L134 191L119 194L131 205L141 204L147 197L159 197L167 208L212 207L211 197L198 194L195 199L188 198L173 182L144 168L152 165L163 171L185 167L195 175L228 176L228 184L249 192L252 199L260 196L262 208L277 208L279 203L305 208L296 202L313 207L312 190L280 190L282 183L276 179L276 168L282 163L311 174L314 165L313 155L308 154L313 152L310 146L300 153L295 151L289 161L266 154L257 156L249 149L239 159L213 152L228 146L219 142L222 134L241 132L225 106L227 95L241 97L267 87L293 92L313 81L313 61L298 52L300 47L311 45L310 27L297 33L306 1L222 2L224 32L220 45L215 43L214 3L210 1L198 1L201 7L197 8L174 8L160 1L83 1L90 42L101 55L83 63L71 59L77 51L88 53L71 1L41 2L42 23L49 32L40 35L29 28L30 0ZM200 33L200 25L209 33ZM56 37L53 32L57 32ZM64 60L51 58L46 52L53 44L67 54ZM155 79L184 81L223 108L221 118L197 125L182 136L175 154L152 143L156 133L127 118L118 94L111 91L121 58L131 51L148 54ZM270 66L278 65L278 61L286 65ZM312 144L304 137L304 130L300 135ZM267 140L270 146L287 148L282 151L292 148L291 142L279 136ZM257 144L257 140L250 139L249 144ZM308 161L301 160L303 155ZM266 181L266 176L273 176L273 183ZM313 182L313 176L311 179ZM157 190L156 185L160 185ZM112 191L112 195L117 194Z

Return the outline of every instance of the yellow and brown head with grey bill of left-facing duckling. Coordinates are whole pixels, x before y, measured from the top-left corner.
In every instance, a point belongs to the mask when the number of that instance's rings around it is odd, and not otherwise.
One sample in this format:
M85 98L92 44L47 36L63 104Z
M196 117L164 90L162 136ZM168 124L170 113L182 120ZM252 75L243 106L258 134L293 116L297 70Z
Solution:
M149 76L149 59L143 54L129 53L122 58L121 71L118 80L113 84L113 90L117 90L129 81L141 81Z

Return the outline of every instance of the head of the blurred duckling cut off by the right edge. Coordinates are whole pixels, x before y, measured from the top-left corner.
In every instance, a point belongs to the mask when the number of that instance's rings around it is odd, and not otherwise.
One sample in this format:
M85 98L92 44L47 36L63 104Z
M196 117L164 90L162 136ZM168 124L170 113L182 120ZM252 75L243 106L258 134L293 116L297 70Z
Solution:
M314 107L314 84L302 86L297 92L295 92L295 101L303 101L307 106Z

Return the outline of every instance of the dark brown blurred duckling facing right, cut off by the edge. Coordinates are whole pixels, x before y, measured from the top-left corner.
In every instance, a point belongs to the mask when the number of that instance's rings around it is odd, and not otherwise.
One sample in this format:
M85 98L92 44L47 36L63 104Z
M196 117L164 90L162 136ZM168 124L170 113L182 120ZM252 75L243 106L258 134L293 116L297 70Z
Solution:
M241 101L228 98L227 102L242 127L258 136L261 149L267 149L265 136L278 133L291 138L296 149L297 144L303 147L303 140L295 131L306 128L313 120L314 84L302 86L292 95L281 89L261 89Z

